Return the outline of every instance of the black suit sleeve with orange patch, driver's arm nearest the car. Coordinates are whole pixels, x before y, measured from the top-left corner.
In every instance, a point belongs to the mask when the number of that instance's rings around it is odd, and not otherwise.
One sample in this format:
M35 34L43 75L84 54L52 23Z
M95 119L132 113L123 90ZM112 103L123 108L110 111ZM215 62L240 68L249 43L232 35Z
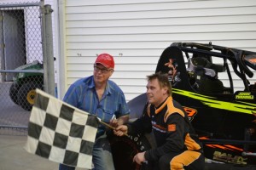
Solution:
M169 129L168 127L171 126ZM170 152L180 152L184 148L185 121L183 116L173 113L166 120L166 141L165 144L146 151L145 159L157 161L160 156ZM157 139L156 139L157 140Z

